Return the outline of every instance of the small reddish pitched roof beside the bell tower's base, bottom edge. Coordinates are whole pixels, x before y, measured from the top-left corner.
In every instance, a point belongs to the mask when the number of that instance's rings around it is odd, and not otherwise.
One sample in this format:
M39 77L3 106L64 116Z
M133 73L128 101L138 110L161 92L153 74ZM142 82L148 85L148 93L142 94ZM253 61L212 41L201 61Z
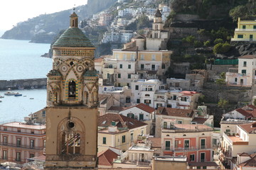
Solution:
M117 153L113 152L111 149L107 149L105 151L99 152L97 154L98 164L105 166L112 166L113 159L117 159L119 156Z

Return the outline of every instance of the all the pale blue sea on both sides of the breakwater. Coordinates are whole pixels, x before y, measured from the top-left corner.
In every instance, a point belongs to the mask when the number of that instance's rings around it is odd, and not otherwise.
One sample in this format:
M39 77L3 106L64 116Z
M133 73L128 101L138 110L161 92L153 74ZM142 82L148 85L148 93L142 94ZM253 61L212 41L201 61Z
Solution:
M0 80L46 78L52 59L41 57L50 44L0 38ZM0 123L23 121L24 117L46 107L46 89L12 90L22 96L4 96L0 91Z

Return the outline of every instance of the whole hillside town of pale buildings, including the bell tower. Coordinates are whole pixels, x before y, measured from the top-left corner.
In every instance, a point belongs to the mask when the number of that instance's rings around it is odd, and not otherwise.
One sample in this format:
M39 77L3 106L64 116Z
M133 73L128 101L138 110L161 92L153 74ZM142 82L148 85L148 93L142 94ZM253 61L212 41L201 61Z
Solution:
M1 168L256 169L256 55L174 65L170 12L163 3L93 15L87 25L108 26L101 42L112 49L94 57L74 10L53 43L46 108L0 125ZM141 15L151 28L124 30ZM233 31L230 43L256 41L255 20L239 17Z

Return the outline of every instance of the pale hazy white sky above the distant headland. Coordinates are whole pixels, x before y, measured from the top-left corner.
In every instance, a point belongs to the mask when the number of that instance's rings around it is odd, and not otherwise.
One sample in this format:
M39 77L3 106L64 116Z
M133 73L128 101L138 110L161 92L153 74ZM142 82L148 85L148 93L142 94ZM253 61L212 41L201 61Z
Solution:
M85 5L87 0L1 0L0 31L9 30L16 23L43 13L54 13L75 6ZM1 37L1 34L0 34Z

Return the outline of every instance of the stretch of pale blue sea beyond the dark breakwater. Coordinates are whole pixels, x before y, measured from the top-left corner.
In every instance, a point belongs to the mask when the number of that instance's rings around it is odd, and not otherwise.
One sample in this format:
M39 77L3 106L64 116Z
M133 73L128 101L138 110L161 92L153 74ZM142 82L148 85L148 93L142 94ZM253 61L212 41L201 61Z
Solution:
M52 60L40 57L50 44L0 39L0 80L45 78Z

